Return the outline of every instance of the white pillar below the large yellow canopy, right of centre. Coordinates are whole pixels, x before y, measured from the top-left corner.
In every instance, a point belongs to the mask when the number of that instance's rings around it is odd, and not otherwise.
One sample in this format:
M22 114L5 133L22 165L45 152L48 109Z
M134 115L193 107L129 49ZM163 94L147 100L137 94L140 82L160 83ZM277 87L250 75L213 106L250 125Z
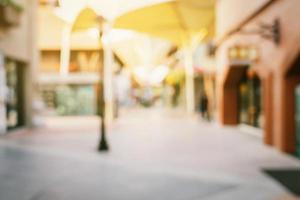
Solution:
M192 48L184 49L186 109L189 114L195 112L195 86Z

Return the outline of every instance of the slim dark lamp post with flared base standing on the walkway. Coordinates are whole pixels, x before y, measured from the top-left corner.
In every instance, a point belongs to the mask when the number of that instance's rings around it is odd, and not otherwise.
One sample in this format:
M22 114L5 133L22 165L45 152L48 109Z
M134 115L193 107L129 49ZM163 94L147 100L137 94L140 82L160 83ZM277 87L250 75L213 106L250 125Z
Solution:
M100 38L100 42L102 41L102 37L103 37L103 22L104 19L101 18L99 19L100 22L100 34L99 34L99 38ZM102 51L100 50L100 53L102 53ZM105 109L106 109L106 104L105 104L105 85L104 85L104 64L102 65L102 67L100 67L99 69L99 116L100 116L100 140L99 140L99 144L98 144L98 151L100 152L105 152L109 150L109 146L107 143L107 139L106 139L106 121L105 121Z

